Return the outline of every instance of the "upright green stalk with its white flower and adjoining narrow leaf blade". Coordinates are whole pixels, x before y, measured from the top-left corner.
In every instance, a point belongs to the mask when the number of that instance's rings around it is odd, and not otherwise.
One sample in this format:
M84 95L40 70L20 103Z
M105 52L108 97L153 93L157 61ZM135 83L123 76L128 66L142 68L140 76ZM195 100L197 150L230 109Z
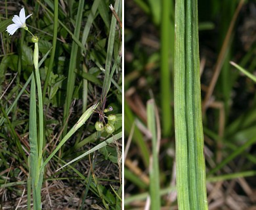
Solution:
M33 51L33 64L35 70L32 73L32 83L30 87L30 173L32 177L32 190L33 190L33 207L34 209L41 209L41 187L43 184L43 169L40 171L41 165L43 165L43 100L42 100L42 88L41 79L39 74L39 48L38 41L39 38L28 30L26 26L26 19L28 19L32 14L28 16L25 15L25 9L20 10L20 15L14 15L11 24L7 26L7 32L9 35L13 35L18 28L23 28L32 35L32 42L35 43L35 49ZM35 84L37 87L37 100L38 100L38 113L39 113L39 129L37 129L37 110L36 110L36 95L35 95ZM38 131L39 130L39 131ZM37 131L39 135L37 138ZM39 141L39 142L38 142ZM28 203L30 206L30 203Z

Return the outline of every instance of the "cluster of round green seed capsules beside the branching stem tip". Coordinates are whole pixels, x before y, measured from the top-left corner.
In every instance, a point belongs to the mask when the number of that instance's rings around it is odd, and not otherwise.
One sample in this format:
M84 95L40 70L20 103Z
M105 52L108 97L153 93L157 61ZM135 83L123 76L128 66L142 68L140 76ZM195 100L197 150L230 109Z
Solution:
M112 107L110 106L110 108L108 109L104 109L104 113L106 112L110 112L112 111ZM102 121L96 121L95 123L95 129L96 131L106 131L106 133L113 133L115 131L115 123L116 123L116 115L114 114L110 114L108 117L108 123L106 123L106 125L103 124Z

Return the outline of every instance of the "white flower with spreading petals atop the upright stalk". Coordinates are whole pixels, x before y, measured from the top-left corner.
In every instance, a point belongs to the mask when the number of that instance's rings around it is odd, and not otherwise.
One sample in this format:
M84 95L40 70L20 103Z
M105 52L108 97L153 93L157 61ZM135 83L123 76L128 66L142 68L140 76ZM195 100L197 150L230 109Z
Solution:
M32 14L29 14L28 16L25 16L25 10L24 7L20 10L20 16L18 15L14 15L14 17L12 18L12 22L14 22L14 24L11 24L9 26L7 26L7 32L10 33L9 35L13 35L13 33L15 33L15 31L18 28L24 28L25 30L28 30L28 27L26 26L26 20L32 16Z

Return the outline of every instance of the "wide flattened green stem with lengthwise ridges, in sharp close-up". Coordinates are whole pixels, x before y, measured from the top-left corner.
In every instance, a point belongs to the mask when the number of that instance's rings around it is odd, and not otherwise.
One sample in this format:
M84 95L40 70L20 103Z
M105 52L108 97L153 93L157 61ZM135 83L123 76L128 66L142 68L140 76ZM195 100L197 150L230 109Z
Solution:
M208 209L203 156L198 2L175 5L175 138L181 210Z

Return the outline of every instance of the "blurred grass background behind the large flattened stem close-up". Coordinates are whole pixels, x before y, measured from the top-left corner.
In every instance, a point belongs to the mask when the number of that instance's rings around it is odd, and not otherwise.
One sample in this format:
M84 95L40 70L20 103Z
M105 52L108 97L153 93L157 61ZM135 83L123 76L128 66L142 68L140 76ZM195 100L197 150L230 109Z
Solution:
M161 35L166 17L162 16L161 3L163 1L127 0L124 5L125 209L145 206L152 146L146 129L146 101L152 95L159 108L162 131L161 206L177 209L173 127L175 1L169 2L167 25L164 25L169 35L164 42ZM209 209L249 209L256 205L253 199L256 86L230 61L255 74L256 3L198 1L198 18ZM161 64L161 46L165 45L168 46L167 78ZM166 80L169 82L162 86ZM163 111L165 102L170 112Z

